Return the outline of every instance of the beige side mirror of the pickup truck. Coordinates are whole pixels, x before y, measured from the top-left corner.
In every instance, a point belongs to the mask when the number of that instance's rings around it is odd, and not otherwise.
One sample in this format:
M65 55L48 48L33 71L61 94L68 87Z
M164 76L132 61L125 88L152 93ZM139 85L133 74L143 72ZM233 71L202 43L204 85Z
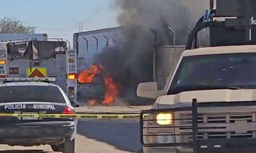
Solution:
M137 96L143 98L157 99L157 82L140 83L137 87Z

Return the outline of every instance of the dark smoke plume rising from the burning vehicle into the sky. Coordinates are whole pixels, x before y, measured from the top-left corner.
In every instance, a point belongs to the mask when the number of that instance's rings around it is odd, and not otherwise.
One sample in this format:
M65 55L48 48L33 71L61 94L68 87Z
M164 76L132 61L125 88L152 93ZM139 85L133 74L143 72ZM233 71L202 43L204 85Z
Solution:
M176 32L176 45L184 45L189 30L197 18L190 12L204 12L204 8L189 8L193 0L116 0L120 14L118 23L123 27L118 41L105 48L95 57L106 71L120 85L120 97L132 104L143 104L136 97L136 87L141 82L153 81L154 47L173 45L173 32ZM199 0L196 0L199 1ZM200 0L203 2L203 0ZM202 3L200 5L203 5ZM207 3L206 3L207 5ZM197 11L195 11L197 9ZM157 42L155 43L155 35Z

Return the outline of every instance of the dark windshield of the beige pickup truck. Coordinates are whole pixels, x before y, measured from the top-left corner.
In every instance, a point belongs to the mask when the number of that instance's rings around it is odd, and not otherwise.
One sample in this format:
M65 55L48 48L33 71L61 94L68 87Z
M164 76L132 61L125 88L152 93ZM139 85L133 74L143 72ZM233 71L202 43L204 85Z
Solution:
M211 89L256 89L256 54L184 57L167 94Z

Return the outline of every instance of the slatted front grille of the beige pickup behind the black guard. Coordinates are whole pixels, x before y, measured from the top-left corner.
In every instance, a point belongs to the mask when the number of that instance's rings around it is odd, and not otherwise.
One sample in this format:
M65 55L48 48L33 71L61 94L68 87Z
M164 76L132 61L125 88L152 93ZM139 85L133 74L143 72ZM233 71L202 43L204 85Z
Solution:
M191 114L181 114L186 120L182 121L182 125L192 124ZM246 121L255 122L256 113L215 113L215 114L198 114L197 122L198 124L198 134L197 138L202 139L233 139L233 138L256 138L256 127L246 133L236 133L234 131L228 131L226 129L226 123L235 123L236 121ZM209 123L209 124L208 124ZM200 129L200 124L212 125L207 128ZM184 134L186 132L192 131L191 128L180 128L180 133ZM187 140L190 142L193 140L192 136L188 136Z

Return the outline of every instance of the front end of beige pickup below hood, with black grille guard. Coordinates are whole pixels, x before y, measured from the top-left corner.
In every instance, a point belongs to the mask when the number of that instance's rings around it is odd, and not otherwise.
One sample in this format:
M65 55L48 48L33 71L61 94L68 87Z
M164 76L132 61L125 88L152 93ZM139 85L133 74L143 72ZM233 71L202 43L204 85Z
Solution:
M202 114L197 110L202 107L225 107L229 112L231 107L248 106L252 108L256 106L256 102L228 102L228 103L197 103L192 102L192 106L176 107L170 109L145 110L140 115L140 140L143 145L143 153L252 153L256 150L256 126L244 127L244 130L237 130L235 127L230 128L236 130L227 132L223 131L223 127L207 127L207 119L201 118ZM201 107L201 108L199 108ZM209 108L209 109L210 109ZM191 118L181 118L180 113L184 111L190 112ZM256 109L254 110L256 112ZM254 112L254 114L255 114ZM173 125L157 124L156 116L159 113L173 113ZM176 115L175 115L176 114ZM181 113L182 114L182 113ZM147 117L145 117L147 116ZM215 120L211 120L215 122ZM188 124L188 120L191 121ZM225 120L225 119L223 119ZM242 118L237 119L240 123ZM204 123L206 121L206 123ZM218 119L219 121L219 119ZM232 121L230 125L235 124ZM187 123L187 124L182 124ZM227 123L209 123L210 125L225 125ZM245 119L241 125L255 125L255 118ZM238 129L241 129L240 127ZM254 130L251 130L254 129ZM248 131L249 130L249 131ZM219 133L223 134L223 137ZM241 133L241 134L240 134ZM246 133L246 134L244 134ZM209 135L207 135L209 134ZM252 135L248 137L248 135ZM211 137L210 137L211 136Z

